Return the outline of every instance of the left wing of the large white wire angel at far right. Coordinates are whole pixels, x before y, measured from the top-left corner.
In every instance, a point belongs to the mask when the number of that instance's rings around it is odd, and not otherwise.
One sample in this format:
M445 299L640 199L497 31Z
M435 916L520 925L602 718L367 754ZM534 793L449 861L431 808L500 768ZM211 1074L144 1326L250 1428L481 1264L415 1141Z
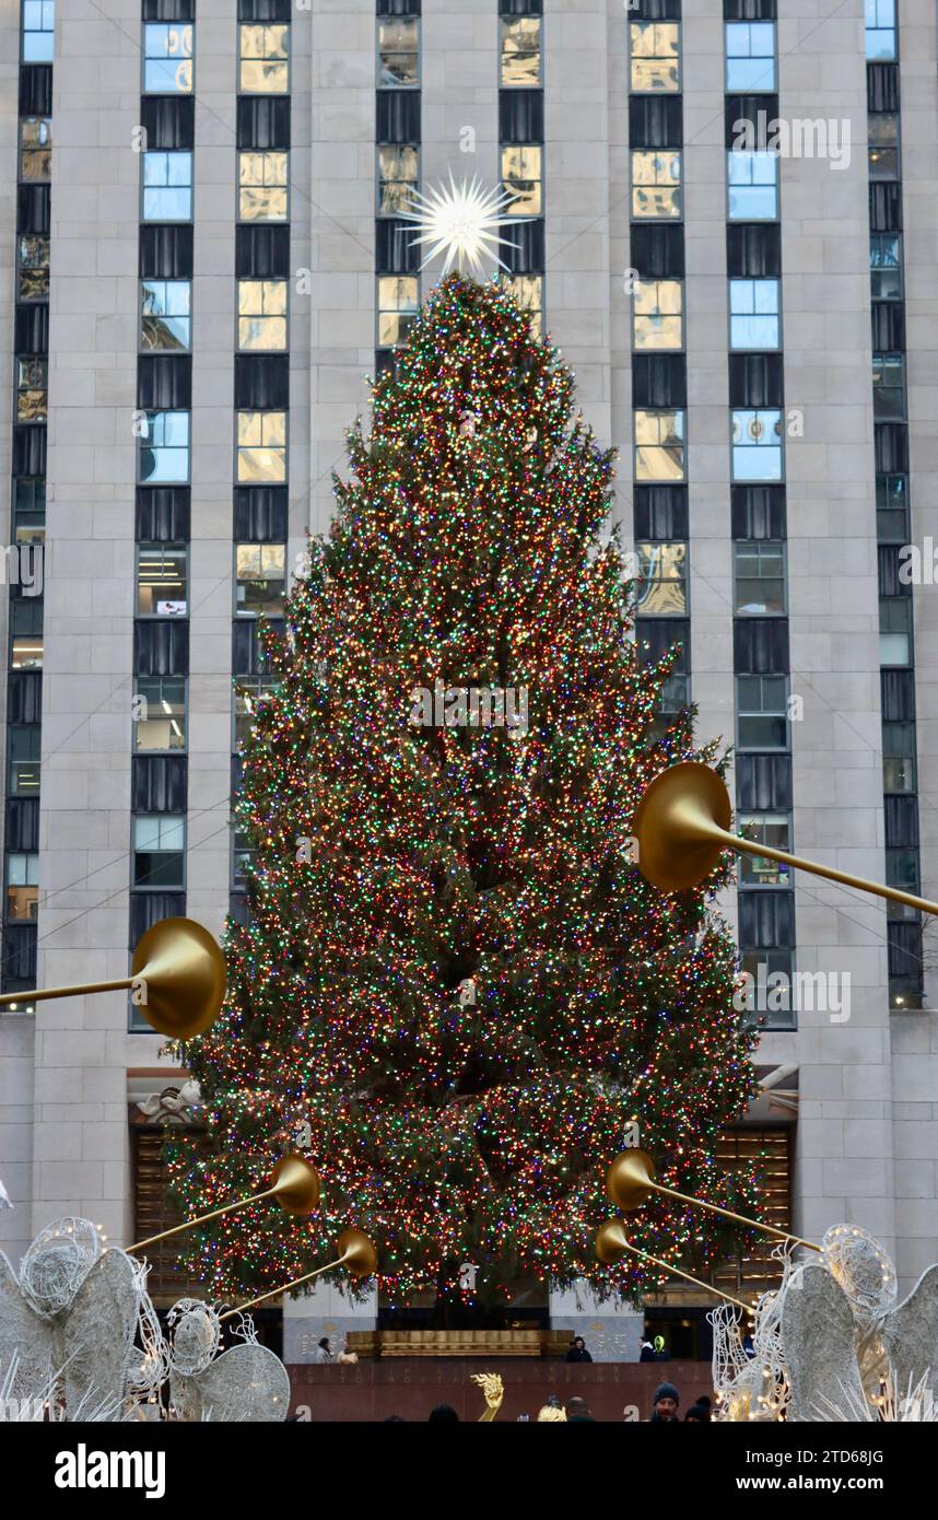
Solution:
M789 1420L816 1420L824 1398L865 1404L850 1300L826 1268L792 1272L781 1304L781 1342L792 1389Z

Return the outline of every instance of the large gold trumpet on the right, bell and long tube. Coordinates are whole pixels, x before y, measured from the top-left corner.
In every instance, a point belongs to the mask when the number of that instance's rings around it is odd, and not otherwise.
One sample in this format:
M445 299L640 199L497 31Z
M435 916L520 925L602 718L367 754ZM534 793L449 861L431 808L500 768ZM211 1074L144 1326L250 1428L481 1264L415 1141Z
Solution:
M891 903L905 903L923 914L938 914L938 903L903 892L898 886L867 882L862 876L743 839L730 831L731 819L730 795L710 766L686 760L661 771L646 787L632 822L642 876L663 892L686 892L710 876L724 850L736 850L810 871L859 892L873 892Z

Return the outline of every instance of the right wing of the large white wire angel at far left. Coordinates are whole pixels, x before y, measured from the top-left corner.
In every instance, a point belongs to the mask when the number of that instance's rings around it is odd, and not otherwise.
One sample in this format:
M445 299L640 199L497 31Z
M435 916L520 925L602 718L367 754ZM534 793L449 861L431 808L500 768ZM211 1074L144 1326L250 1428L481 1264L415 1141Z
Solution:
M135 1351L140 1289L134 1262L123 1251L105 1251L94 1263L62 1321L65 1408L123 1401ZM88 1418L88 1417L87 1417Z

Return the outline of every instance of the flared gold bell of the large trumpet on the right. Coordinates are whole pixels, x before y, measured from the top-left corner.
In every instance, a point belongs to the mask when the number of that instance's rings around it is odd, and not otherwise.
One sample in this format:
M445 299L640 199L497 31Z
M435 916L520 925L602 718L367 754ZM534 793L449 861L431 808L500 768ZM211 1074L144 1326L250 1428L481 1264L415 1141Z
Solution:
M731 821L727 787L710 766L687 760L661 771L632 821L642 876L661 892L696 886L727 848L715 830L727 830Z

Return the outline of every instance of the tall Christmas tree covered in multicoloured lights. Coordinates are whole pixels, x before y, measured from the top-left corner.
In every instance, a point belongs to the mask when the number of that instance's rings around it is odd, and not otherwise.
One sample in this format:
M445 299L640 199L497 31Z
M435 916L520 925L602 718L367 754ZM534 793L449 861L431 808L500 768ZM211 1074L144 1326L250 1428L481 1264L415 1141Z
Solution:
M632 859L645 786L693 751L648 666L611 527L613 454L573 375L500 284L438 286L348 436L271 649L245 749L249 924L227 932L222 1017L185 1047L208 1155L170 1142L187 1214L265 1186L303 1146L322 1208L261 1204L195 1239L207 1292L328 1262L354 1224L382 1287L445 1298L459 1265L601 1292L605 1172L635 1129L661 1181L745 1213L715 1163L753 1093L734 948L708 898ZM631 1239L710 1269L733 1237L652 1199Z

